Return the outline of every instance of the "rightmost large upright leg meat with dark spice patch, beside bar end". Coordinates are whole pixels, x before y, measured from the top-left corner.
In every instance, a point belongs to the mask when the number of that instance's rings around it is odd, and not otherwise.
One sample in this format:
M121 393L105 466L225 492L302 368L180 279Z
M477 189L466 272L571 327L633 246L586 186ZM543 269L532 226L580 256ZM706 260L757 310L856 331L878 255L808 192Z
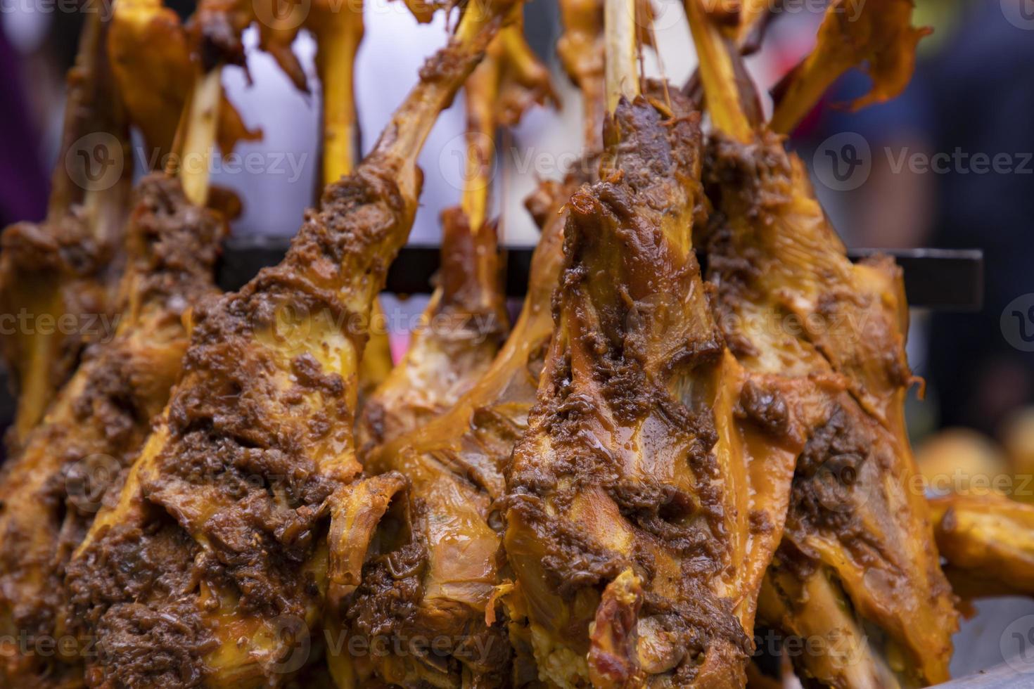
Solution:
M798 672L820 682L940 682L956 616L905 434L900 271L889 259L850 263L802 164L776 135L749 146L716 137L705 169L717 209L708 279L730 348L747 370L811 381L804 394L824 397L809 419L766 582L774 595L762 596L760 615L827 638L855 630L866 662L799 659ZM818 599L840 604L809 605ZM866 648L863 621L886 635L883 648Z

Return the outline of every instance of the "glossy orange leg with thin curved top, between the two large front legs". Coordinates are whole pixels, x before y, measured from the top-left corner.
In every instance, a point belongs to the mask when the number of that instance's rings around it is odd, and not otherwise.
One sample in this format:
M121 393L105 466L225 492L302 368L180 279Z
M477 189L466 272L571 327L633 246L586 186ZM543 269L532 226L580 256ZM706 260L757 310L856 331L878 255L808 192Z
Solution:
M520 669L526 663L518 660L511 676L501 620L486 623L500 577L501 523L493 501L504 494L501 466L526 427L552 334L550 297L566 218L558 211L573 186L574 180L543 183L528 199L546 224L520 318L488 371L447 413L365 458L369 472L404 473L414 499L400 520L403 526L382 538L382 552L364 567L363 585L345 615L348 634L403 643L440 637L451 644L423 657L342 658L357 686L374 678L403 687L523 684Z

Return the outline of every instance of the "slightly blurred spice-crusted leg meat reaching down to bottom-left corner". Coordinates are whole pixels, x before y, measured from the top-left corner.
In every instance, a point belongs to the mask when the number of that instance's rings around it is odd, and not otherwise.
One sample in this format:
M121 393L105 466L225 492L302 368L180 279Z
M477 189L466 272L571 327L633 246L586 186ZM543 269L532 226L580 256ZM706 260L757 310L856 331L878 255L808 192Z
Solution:
M82 681L80 658L40 646L57 637L65 565L165 405L186 351L187 309L215 291L221 218L160 176L136 193L118 330L91 349L0 476L0 636L34 639L28 653L16 641L2 652L4 686Z

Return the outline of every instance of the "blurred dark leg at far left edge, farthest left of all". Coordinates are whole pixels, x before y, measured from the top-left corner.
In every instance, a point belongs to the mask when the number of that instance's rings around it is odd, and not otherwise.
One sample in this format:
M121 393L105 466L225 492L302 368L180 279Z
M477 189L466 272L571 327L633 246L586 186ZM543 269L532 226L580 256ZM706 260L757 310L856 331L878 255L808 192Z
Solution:
M0 339L19 396L7 439L13 453L86 345L111 336L118 281L113 262L128 214L132 157L105 56L110 25L100 14L88 19L68 71L47 219L11 225L0 238L0 314L17 323L13 335Z

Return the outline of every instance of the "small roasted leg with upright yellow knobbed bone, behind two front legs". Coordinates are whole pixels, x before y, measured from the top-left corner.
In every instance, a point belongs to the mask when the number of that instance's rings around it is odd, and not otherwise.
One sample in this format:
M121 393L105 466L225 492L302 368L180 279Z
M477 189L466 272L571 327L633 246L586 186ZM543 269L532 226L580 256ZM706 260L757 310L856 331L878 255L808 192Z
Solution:
M455 405L491 365L509 330L495 225L487 222L495 130L516 125L552 93L519 15L495 37L464 92L466 168L460 207L442 216L442 284L405 358L363 407L361 455Z

